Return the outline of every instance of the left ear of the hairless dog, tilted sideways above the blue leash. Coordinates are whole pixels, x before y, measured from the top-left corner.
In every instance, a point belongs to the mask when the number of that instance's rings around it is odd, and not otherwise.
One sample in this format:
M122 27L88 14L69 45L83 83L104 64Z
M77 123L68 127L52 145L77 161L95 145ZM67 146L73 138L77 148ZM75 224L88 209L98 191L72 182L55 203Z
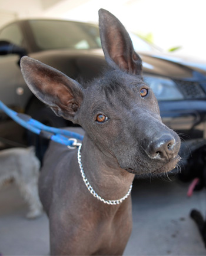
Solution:
M29 57L21 58L21 71L32 93L57 114L77 122L84 90L77 81Z

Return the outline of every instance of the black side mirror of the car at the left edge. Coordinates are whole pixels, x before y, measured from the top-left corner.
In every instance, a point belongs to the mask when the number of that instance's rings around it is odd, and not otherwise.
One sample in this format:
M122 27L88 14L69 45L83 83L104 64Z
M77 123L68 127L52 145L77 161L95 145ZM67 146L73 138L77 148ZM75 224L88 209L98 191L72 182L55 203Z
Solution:
M18 54L19 57L27 55L27 52L24 48L19 47L18 45L12 44L8 41L0 41L0 55L8 54Z

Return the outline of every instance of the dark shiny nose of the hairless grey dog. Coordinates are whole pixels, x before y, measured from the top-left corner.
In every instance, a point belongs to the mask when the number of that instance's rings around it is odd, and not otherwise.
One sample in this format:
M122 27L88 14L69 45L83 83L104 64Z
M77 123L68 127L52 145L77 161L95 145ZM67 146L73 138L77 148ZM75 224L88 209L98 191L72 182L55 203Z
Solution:
M178 153L178 145L171 134L162 135L147 146L147 154L152 159L170 160Z

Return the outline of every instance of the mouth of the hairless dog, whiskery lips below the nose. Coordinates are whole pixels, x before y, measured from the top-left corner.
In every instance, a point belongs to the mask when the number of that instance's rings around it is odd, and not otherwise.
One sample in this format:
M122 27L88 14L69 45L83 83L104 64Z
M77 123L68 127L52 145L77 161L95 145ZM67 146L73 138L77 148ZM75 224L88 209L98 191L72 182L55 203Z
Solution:
M137 174L137 175L146 174L146 173L158 174L163 172L170 172L171 170L175 169L179 161L180 161L180 156L177 155L176 157L174 157L169 162L165 163L164 165L162 165L160 168L156 170L145 170L144 172L139 172L131 168L127 168L125 170L127 170L127 172L129 173Z

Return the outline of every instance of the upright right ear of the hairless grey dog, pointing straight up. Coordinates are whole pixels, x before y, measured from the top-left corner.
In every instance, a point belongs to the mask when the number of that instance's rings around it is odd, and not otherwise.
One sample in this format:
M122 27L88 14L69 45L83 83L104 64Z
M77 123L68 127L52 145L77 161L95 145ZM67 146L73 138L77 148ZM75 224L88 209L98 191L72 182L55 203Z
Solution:
M141 75L142 60L121 22L105 9L99 9L99 32L107 63L129 74Z

